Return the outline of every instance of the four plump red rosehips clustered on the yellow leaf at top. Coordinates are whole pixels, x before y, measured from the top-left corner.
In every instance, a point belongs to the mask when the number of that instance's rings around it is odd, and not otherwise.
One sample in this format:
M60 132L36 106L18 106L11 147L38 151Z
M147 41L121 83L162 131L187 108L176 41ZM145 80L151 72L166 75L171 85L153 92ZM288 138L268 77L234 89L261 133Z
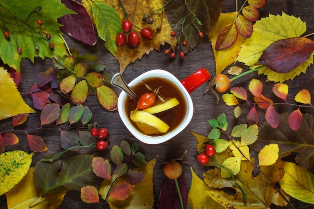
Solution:
M118 33L116 36L116 43L118 47L124 46L126 43L135 49L140 44L140 37L137 32L132 30L132 23L129 20L122 21L123 33ZM126 37L127 34L127 37ZM152 31L149 28L142 28L140 30L140 36L146 40L152 40Z

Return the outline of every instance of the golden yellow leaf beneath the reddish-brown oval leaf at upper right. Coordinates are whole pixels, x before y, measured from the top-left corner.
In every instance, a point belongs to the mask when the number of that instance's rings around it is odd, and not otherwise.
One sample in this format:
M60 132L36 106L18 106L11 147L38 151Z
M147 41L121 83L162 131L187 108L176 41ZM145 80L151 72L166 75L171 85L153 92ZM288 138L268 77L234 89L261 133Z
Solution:
M229 47L228 49L222 51L216 51L216 41L220 30L232 24L234 21L236 13L222 13L219 16L218 22L216 23L214 29L209 34L209 40L212 43L214 56L216 61L216 75L220 74L224 69L226 69L229 65L235 62L235 59L240 52L241 45L244 43L244 38L242 36L238 36L236 42Z

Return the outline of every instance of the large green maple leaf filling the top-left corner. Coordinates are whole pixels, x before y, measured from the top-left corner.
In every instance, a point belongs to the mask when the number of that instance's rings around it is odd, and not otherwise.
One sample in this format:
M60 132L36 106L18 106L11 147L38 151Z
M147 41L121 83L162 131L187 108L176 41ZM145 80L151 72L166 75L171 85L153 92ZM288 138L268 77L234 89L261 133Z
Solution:
M22 58L34 62L35 57L44 59L67 54L64 40L59 36L61 25L57 23L57 18L74 12L59 0L5 0L0 3L0 13L6 14L3 17L3 28L11 35L10 40L5 36L0 37L0 57L5 64L20 71ZM43 23L41 26L36 22L38 19ZM47 40L46 34L51 35L50 41ZM54 44L54 50L50 49L49 42ZM23 50L21 55L17 51L18 47ZM39 50L35 47L39 47Z

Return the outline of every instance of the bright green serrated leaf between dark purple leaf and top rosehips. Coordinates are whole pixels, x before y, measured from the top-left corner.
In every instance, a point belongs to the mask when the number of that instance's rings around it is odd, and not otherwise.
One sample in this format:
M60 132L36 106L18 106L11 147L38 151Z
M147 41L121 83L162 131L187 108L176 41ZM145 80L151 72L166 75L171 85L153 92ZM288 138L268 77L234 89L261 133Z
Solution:
M115 38L122 31L118 13L110 5L99 1L93 2L92 12L99 37L106 42L105 47L115 56L117 50Z

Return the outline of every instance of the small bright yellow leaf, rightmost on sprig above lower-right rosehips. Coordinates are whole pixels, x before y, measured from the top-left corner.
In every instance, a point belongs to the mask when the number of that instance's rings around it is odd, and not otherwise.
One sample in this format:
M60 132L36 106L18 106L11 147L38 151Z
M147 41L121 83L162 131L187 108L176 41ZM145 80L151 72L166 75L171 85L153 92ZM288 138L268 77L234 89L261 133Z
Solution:
M259 165L272 165L278 159L279 146L278 144L265 145L258 153Z

